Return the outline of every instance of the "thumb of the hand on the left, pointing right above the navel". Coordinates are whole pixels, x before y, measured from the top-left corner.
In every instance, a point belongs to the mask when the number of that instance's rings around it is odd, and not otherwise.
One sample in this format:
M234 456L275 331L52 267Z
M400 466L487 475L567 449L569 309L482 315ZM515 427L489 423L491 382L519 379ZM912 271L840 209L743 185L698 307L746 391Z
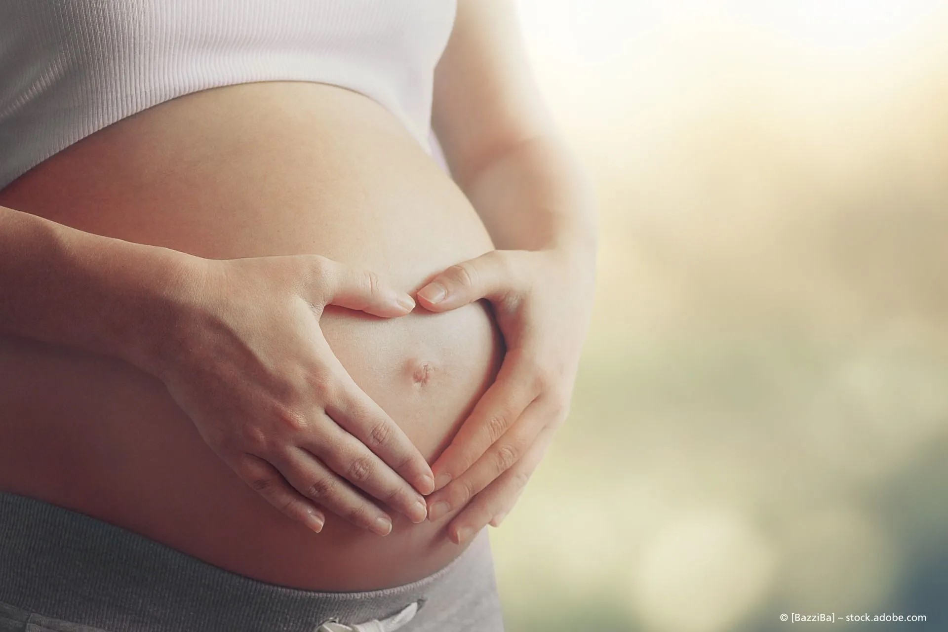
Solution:
M374 316L405 316L415 302L408 294L397 292L372 270L314 256L320 300Z

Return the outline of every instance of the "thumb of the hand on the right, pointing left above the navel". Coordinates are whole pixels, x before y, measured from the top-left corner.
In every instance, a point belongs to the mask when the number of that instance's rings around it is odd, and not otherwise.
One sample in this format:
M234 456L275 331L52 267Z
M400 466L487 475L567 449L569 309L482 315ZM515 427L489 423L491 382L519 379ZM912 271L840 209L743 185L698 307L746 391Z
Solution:
M510 289L507 259L501 250L447 268L416 295L432 312L453 310L479 298L495 298Z

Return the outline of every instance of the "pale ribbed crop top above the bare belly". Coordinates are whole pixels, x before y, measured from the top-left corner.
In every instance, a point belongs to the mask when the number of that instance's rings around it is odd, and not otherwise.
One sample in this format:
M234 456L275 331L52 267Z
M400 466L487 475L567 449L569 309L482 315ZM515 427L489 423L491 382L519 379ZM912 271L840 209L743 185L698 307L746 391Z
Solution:
M0 0L0 189L121 118L198 90L317 81L430 151L456 0Z

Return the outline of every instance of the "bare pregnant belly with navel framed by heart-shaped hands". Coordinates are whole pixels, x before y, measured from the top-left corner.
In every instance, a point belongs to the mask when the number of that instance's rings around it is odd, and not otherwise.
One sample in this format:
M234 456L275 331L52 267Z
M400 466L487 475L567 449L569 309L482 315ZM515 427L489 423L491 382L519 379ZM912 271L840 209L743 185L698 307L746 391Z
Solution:
M493 247L463 193L390 113L317 83L167 101L49 158L0 191L0 205L211 259L317 253L410 292ZM502 352L483 302L391 320L331 307L320 326L429 462ZM0 490L289 587L391 587L463 551L447 519L413 525L393 513L381 537L330 514L312 533L219 460L153 376L12 336L0 336Z

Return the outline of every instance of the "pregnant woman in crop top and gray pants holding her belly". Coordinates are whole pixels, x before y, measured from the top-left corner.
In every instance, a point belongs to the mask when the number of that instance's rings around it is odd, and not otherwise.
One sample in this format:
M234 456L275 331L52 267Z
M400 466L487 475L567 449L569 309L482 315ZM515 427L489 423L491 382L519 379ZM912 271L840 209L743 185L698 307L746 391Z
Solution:
M595 258L515 16L0 3L0 630L502 629Z

